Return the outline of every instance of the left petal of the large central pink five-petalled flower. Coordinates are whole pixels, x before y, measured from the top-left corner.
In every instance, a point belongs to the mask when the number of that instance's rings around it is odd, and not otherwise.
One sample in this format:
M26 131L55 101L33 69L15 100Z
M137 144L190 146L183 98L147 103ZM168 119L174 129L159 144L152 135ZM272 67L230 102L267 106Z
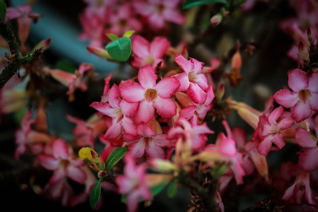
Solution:
M132 80L121 81L119 92L122 99L126 102L140 102L144 99L144 88Z

